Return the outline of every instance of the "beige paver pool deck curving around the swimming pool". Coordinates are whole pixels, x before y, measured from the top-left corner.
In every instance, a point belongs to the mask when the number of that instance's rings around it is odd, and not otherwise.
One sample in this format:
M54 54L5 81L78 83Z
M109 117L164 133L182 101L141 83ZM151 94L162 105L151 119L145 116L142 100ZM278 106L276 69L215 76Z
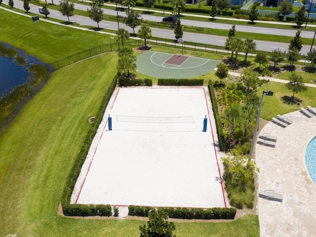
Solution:
M258 198L261 237L316 237L316 185L305 165L305 150L316 136L316 116L285 115L285 128L269 122L260 134L277 137L276 147L256 144L259 190L274 190L283 202Z

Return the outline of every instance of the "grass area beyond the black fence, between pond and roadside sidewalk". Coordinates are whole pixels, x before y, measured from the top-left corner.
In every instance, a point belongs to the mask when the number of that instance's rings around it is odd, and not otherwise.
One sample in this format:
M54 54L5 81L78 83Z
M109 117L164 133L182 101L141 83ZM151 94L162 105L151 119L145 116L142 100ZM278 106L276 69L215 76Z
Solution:
M0 41L16 48L23 48L30 55L46 63L100 44L116 42L115 39L111 39L112 36L61 27L43 21L33 23L30 18L6 11L0 11L0 21Z

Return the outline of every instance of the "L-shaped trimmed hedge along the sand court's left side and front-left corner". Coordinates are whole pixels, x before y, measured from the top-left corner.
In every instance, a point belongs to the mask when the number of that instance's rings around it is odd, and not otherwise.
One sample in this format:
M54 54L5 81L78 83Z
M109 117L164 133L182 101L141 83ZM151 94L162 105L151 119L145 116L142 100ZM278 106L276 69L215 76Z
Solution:
M97 132L99 124L102 121L105 109L109 103L111 95L117 84L117 76L113 77L108 91L105 93L99 111L96 114L93 123L88 130L88 133L82 143L81 150L76 158L71 172L67 178L64 191L61 197L61 205L63 207L63 213L67 216L111 216L112 209L110 205L81 205L81 204L70 204L70 198L77 182L81 166L88 154L92 140Z

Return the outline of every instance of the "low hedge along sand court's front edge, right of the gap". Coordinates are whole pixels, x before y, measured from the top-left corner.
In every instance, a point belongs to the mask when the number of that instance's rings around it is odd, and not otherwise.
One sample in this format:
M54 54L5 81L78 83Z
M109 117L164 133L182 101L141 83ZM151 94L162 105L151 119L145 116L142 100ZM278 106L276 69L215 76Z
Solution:
M128 206L128 215L130 216L148 216L150 210L156 209L149 206ZM163 209L169 218L178 219L234 219L236 215L235 208L213 207L208 209L203 208L186 208L186 207L159 207Z

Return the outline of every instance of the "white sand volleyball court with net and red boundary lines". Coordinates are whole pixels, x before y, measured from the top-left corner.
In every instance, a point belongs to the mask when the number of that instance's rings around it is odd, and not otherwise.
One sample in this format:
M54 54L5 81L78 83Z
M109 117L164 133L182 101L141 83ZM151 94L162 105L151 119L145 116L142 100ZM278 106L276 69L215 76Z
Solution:
M71 202L224 207L216 127L208 108L206 87L117 88Z

